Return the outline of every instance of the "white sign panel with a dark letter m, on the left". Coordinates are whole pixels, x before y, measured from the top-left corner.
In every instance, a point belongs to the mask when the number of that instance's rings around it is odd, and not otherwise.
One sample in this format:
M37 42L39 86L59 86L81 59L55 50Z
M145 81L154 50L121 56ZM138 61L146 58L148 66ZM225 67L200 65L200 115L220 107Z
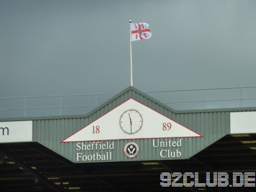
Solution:
M0 143L32 141L32 121L0 122Z

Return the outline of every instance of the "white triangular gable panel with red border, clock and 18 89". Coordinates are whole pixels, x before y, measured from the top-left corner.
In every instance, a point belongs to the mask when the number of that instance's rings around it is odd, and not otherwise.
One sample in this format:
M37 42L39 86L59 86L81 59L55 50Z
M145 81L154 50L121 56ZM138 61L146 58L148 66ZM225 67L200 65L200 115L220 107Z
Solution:
M129 99L62 142L180 137L202 135Z

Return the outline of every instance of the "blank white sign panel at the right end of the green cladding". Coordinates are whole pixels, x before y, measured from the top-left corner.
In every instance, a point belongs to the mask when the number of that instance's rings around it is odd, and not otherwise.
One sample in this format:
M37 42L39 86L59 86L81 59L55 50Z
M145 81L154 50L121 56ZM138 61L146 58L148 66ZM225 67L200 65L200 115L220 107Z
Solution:
M256 111L230 113L230 133L256 133Z

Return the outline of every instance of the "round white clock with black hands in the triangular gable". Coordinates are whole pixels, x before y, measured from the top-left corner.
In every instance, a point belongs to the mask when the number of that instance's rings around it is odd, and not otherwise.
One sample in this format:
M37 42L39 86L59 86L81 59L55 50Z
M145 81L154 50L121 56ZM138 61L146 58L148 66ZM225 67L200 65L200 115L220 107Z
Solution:
M139 111L129 109L120 116L119 124L121 129L127 134L133 134L140 131L143 119Z

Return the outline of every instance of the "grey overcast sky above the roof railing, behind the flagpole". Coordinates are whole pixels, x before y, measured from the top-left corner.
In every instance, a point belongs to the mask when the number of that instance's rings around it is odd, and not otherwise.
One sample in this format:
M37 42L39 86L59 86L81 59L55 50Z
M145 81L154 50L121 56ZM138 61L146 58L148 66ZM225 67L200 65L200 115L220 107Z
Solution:
M0 0L0 97L255 86L255 0Z

